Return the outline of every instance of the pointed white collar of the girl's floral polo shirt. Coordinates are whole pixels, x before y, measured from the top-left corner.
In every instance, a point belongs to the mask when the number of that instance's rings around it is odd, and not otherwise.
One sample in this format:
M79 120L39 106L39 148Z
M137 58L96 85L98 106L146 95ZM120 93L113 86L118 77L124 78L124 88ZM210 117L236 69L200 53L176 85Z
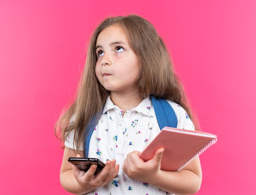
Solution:
M109 95L102 114L106 114L106 112L108 110L113 109L115 107L117 107L119 109L119 107L111 101L110 95ZM143 101L141 101L141 103L139 103L139 105L137 105L135 108L132 108L130 111L136 111L136 112L139 112L146 116L151 116L152 107L153 107L153 105L152 105L151 99L148 96Z

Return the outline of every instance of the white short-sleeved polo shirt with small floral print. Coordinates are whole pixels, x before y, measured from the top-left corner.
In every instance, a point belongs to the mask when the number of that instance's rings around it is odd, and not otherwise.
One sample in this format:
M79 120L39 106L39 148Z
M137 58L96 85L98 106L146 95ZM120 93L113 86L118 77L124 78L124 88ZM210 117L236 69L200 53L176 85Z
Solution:
M186 111L177 103L167 101L177 116L177 128L195 130ZM97 188L88 195L169 194L145 182L130 179L122 169L126 155L135 150L142 151L159 131L150 97L145 98L137 107L123 113L112 103L109 96L99 123L90 139L88 157L99 158L103 162L116 159L117 164L120 165L119 173L112 182ZM65 140L65 146L76 149L73 145L73 137L74 132L72 131Z

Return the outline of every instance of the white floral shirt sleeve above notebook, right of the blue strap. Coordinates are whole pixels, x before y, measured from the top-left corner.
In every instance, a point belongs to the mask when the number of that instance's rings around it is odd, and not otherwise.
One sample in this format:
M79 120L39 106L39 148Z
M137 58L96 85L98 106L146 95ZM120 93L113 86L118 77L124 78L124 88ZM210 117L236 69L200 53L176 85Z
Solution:
M166 101L171 105L171 107L173 108L177 116L177 121L178 121L177 129L195 130L193 122L189 118L189 115L186 113L184 108L171 100L166 100Z

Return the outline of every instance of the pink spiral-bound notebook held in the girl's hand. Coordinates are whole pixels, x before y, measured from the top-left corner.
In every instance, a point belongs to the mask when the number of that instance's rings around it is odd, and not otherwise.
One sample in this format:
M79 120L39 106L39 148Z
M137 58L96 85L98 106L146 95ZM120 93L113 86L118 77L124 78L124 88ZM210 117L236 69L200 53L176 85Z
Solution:
M139 156L146 162L163 147L161 170L180 171L216 141L216 135L202 131L164 127Z

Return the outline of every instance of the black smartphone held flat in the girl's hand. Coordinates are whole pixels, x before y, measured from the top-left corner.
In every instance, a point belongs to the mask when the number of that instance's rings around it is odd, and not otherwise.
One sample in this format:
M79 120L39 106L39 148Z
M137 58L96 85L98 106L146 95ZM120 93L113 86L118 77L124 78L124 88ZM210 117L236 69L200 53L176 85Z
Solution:
M103 167L105 167L105 163L99 160L98 158L68 158L68 162L74 164L76 167L78 167L82 171L88 171L90 169L92 164L97 165L97 169L94 173L96 175L99 173Z

